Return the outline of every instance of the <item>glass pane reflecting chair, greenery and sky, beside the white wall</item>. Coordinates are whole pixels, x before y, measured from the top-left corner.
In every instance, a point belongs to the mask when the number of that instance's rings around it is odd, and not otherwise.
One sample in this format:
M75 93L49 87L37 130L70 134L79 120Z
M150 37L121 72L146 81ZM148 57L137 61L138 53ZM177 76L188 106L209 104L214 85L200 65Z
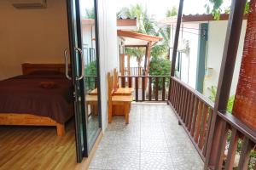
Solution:
M100 131L97 92L96 15L94 0L80 0L84 53L84 96L89 150Z

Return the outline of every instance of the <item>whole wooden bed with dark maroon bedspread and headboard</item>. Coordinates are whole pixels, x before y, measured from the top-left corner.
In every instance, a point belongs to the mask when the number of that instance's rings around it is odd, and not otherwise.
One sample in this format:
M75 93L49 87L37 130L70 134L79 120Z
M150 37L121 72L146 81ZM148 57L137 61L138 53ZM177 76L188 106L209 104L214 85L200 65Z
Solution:
M23 64L22 75L0 81L0 125L55 126L65 134L73 116L72 82L65 65Z

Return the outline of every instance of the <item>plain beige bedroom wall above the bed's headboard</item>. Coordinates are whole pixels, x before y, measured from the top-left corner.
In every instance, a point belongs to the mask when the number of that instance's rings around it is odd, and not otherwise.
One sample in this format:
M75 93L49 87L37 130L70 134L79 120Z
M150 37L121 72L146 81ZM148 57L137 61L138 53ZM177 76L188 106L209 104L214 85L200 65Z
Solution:
M68 47L65 0L44 9L17 9L0 1L0 80L21 74L21 64L64 63Z

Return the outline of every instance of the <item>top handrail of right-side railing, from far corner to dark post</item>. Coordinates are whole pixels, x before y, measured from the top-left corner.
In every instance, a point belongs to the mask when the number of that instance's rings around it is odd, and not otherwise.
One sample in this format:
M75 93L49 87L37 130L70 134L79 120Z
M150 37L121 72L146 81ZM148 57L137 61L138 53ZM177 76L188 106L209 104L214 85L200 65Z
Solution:
M177 79L177 77L171 77L174 81L180 83L184 88L186 88L187 90L189 90L192 94L194 94L198 99L201 99L201 101L203 101L204 103L206 103L209 107L211 107L213 109L214 107L214 103L208 99L206 96L204 96L203 94L199 93L198 91L196 91L194 88L191 88L188 84L186 84L185 82L182 82L181 80Z

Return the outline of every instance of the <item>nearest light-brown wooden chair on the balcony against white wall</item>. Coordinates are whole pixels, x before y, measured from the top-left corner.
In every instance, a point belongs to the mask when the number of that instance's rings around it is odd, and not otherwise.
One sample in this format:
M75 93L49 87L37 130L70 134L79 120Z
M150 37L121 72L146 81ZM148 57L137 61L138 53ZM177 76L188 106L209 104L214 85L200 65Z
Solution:
M108 123L112 122L113 106L122 106L125 112L125 123L129 123L131 95L113 95L113 76L108 72Z

